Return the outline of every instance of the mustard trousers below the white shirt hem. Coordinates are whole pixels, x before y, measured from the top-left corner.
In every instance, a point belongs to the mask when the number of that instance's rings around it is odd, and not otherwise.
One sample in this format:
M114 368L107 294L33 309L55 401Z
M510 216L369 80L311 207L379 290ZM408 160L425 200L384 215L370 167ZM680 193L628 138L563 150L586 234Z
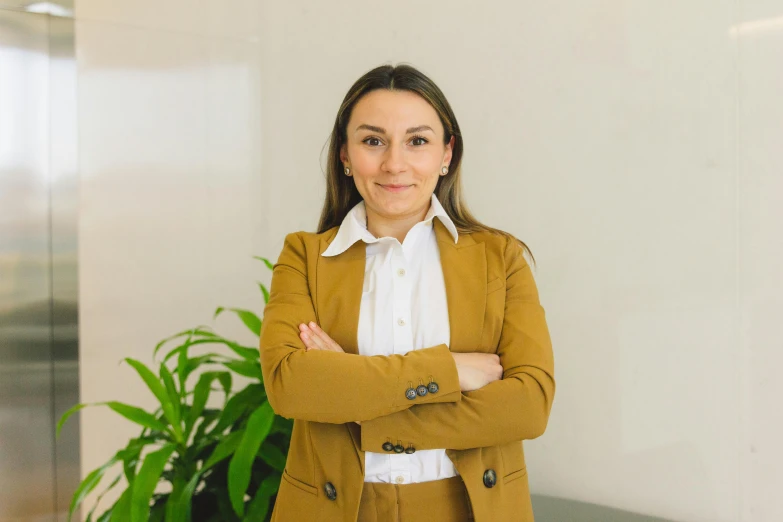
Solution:
M470 522L473 512L459 475L388 484L365 482L358 522Z

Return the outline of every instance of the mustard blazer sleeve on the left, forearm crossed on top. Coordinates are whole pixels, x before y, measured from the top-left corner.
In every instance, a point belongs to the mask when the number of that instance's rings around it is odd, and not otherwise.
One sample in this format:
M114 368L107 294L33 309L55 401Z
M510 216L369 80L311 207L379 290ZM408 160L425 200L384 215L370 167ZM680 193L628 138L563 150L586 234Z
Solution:
M335 424L388 415L410 408L408 382L430 374L438 376L441 393L419 397L419 404L462 399L447 345L369 357L307 351L299 324L315 320L305 242L299 233L288 234L273 267L259 341L264 388L278 415Z

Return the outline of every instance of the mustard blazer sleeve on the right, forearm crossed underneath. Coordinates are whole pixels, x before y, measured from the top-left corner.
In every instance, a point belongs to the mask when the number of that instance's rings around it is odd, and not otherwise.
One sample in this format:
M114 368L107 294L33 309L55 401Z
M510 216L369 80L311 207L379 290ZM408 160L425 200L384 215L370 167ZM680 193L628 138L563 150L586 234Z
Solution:
M554 358L545 312L518 243L507 244L506 304L497 353L503 378L449 404L415 405L361 423L361 449L387 440L417 450L469 449L534 439L544 433L555 395ZM415 353L415 352L414 352Z

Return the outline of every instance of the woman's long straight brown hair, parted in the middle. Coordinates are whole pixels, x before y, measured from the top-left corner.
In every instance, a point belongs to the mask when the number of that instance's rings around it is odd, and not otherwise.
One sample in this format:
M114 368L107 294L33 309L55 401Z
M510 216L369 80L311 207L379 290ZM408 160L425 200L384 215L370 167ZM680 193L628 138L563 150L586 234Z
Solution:
M330 228L339 226L348 212L362 200L353 178L343 174L340 149L347 141L346 128L348 127L348 121L351 119L351 111L354 106L362 96L377 89L410 91L418 94L427 100L438 113L444 129L444 145L454 136L449 173L445 176L439 176L438 183L435 186L435 196L454 222L457 230L460 233L490 232L506 236L513 241L517 241L522 249L528 253L533 263L535 263L533 253L524 242L508 232L484 225L473 217L468 210L462 195L461 163L463 144L457 117L454 116L446 96L435 85L435 82L407 64L399 64L397 66L381 65L367 72L356 80L345 95L342 104L340 104L340 109L337 111L337 117L334 121L332 135L329 139L329 156L326 166L326 198L321 211L321 220L318 223L318 233L320 234Z

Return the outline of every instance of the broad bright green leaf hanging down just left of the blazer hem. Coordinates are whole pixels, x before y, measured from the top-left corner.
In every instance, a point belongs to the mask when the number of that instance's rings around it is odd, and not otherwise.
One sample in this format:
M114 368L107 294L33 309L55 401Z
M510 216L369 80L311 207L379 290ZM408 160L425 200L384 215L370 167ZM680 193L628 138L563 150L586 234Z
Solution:
M234 512L240 517L245 514L245 493L250 485L253 461L261 443L272 429L274 418L275 413L268 402L250 415L242 442L228 465L228 495Z

